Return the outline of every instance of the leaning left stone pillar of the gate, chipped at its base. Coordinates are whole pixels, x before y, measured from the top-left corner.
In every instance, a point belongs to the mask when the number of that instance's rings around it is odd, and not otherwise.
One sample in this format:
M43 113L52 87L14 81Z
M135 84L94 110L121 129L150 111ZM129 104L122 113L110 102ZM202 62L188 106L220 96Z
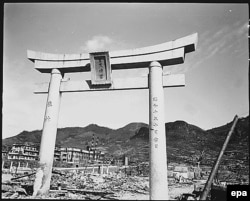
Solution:
M60 108L60 84L63 78L58 69L51 70L50 86L44 115L40 145L39 167L36 172L33 196L46 194L50 189L50 179L56 143L57 123Z

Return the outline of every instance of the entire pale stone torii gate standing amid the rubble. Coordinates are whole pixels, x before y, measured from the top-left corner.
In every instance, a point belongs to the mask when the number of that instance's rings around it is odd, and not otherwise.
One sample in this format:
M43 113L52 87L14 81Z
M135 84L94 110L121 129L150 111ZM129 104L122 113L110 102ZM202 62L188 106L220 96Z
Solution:
M50 83L35 93L48 93L40 146L40 161L34 196L50 188L61 93L95 90L149 88L150 199L168 200L167 150L164 120L164 87L185 85L183 74L163 75L162 66L184 63L185 54L195 51L198 34L159 45L90 54L48 54L27 51L41 73L50 73ZM112 70L149 68L149 78L112 79ZM63 80L65 73L91 71L91 80Z

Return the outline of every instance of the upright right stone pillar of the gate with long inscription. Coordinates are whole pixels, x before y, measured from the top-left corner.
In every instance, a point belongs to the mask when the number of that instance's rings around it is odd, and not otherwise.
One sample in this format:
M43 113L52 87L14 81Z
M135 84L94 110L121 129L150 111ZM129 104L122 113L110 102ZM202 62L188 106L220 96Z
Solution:
M168 200L162 66L149 66L150 200Z

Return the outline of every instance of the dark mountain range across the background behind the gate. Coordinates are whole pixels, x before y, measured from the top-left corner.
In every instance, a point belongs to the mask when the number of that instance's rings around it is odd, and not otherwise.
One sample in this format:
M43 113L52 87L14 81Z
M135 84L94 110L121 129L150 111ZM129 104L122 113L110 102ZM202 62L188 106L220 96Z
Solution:
M203 130L185 121L165 124L168 161L195 164L197 157L204 151L203 164L212 165L231 128L232 122L226 125ZM240 118L230 140L227 153L237 153L233 157L225 154L225 161L236 161L246 165L249 162L249 116ZM113 156L128 155L131 160L149 160L149 128L145 123L130 123L119 129L110 129L96 124L86 127L59 128L56 146L86 149L92 136L99 138L97 148ZM23 131L19 135L4 139L3 146L13 143L40 143L41 131ZM226 162L222 164L226 164ZM232 162L231 161L231 162ZM201 163L201 164L202 164Z

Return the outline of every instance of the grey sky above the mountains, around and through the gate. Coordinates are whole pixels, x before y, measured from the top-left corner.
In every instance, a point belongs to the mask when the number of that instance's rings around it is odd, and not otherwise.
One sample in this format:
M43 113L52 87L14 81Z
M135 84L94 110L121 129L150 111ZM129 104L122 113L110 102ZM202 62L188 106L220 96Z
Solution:
M165 122L211 129L249 115L248 4L5 3L2 139L41 130L47 94L35 84L50 74L34 69L27 50L77 54L156 45L198 33L195 52L164 73L185 74L185 87L164 88ZM148 69L112 71L141 77ZM90 73L68 73L71 80ZM121 128L149 122L149 91L63 93L58 128L97 124Z

